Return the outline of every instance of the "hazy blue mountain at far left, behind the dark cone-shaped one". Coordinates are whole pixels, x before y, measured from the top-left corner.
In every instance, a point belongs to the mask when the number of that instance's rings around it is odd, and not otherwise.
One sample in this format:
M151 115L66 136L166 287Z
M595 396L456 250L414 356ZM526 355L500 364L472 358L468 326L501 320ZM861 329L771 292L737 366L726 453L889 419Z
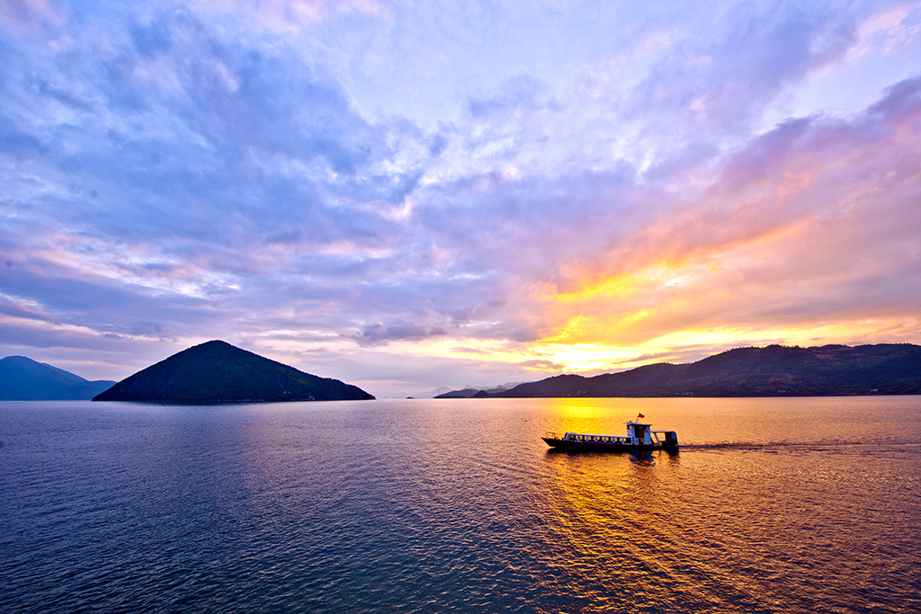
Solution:
M0 400L89 400L114 383L89 381L25 356L0 360Z

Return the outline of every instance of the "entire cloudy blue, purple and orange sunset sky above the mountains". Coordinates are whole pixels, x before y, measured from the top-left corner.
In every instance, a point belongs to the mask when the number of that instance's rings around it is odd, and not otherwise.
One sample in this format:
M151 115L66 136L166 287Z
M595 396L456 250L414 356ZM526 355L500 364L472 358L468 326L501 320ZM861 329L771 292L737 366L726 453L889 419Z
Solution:
M379 396L921 342L921 2L0 2L0 356Z

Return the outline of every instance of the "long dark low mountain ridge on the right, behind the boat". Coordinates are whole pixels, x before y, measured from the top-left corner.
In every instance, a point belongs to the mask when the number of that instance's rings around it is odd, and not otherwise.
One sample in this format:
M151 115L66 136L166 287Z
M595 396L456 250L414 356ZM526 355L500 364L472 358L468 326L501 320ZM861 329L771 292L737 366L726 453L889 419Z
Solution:
M921 394L921 346L885 343L857 347L747 347L718 353L687 365L659 363L596 377L548 377L510 390L496 393L481 390L469 396L776 397L850 394ZM447 395L440 398L445 397Z

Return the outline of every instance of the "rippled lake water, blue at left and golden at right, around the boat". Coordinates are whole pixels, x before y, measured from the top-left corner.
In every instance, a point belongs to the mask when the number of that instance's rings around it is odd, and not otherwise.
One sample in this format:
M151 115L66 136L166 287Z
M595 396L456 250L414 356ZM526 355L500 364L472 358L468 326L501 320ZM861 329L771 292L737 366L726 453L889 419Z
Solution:
M681 450L554 452L545 431ZM921 397L0 402L0 611L921 611Z

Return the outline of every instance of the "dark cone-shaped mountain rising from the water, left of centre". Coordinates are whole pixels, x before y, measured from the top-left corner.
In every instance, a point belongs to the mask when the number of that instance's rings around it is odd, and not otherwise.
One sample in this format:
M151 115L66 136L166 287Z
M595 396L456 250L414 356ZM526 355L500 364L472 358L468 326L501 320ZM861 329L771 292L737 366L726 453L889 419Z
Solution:
M185 403L367 399L374 397L356 386L311 376L221 341L173 354L93 398Z

